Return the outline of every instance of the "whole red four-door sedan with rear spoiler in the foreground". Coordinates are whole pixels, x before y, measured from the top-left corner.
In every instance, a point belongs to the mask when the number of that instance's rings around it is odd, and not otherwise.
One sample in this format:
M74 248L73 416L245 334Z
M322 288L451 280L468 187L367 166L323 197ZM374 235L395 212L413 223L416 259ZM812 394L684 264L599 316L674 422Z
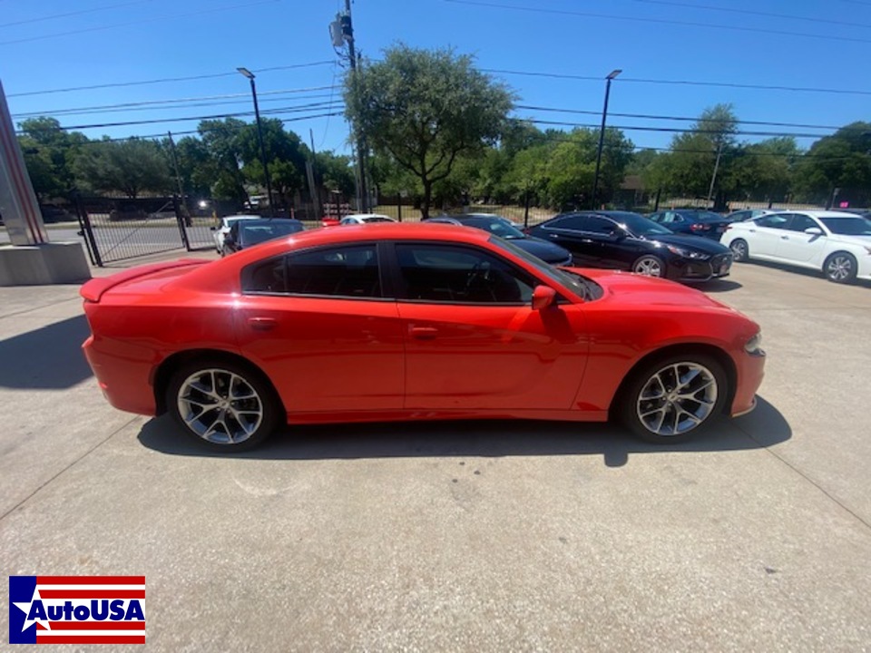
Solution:
M281 424L620 420L673 442L755 405L759 327L698 290L553 268L479 229L313 229L82 288L113 406L212 448Z

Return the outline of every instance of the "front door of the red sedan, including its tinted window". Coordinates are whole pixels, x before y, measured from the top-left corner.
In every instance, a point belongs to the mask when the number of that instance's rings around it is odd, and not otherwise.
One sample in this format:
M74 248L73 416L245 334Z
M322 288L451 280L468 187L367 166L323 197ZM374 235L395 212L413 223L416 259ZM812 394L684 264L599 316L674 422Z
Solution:
M492 253L399 244L406 409L568 409L588 341L581 307L531 307L537 280Z

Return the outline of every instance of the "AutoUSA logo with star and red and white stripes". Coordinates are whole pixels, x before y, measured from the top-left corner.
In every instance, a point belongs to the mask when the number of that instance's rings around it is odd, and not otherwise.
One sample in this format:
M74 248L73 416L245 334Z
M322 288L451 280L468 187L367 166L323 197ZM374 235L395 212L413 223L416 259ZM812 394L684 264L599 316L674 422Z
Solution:
M144 644L144 576L10 576L10 644Z

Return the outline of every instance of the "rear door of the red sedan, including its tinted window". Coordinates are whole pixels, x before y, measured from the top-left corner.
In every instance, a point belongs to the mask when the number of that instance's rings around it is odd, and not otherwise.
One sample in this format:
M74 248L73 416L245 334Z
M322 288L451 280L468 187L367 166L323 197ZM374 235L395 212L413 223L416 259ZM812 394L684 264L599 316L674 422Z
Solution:
M396 302L382 297L374 245L274 258L242 284L240 349L289 413L402 408L405 332Z

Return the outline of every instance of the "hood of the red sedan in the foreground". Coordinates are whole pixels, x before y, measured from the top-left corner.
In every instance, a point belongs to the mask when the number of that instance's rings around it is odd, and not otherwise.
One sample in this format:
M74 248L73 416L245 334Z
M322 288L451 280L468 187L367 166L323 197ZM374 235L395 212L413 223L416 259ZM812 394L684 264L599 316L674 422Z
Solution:
M626 307L701 308L739 314L734 308L721 304L695 288L683 286L663 278L645 277L621 270L599 268L574 268L578 274L590 278L602 286L603 298L619 301Z

